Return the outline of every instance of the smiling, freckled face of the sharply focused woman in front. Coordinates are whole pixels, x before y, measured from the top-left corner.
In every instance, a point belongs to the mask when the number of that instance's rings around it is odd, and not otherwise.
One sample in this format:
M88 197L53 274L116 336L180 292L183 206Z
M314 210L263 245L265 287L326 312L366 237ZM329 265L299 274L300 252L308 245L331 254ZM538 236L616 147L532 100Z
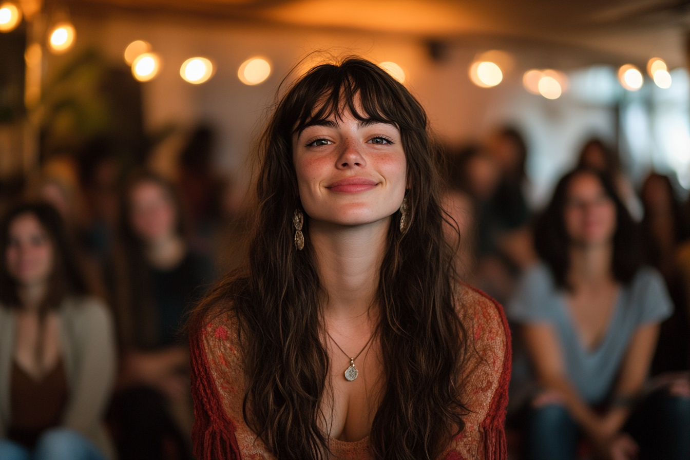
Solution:
M331 116L295 134L293 161L302 207L315 221L373 223L402 204L406 159L391 124L359 121L346 110L342 119Z

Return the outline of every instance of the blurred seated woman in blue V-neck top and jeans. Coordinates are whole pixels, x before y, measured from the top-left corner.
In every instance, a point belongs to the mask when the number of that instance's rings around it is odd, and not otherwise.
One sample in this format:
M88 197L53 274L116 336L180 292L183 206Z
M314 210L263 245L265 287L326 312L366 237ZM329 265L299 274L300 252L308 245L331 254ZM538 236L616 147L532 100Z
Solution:
M604 459L690 458L690 399L642 397L672 305L614 187L593 170L561 179L535 228L543 263L509 303L542 388L525 423L530 460L573 459L580 434Z

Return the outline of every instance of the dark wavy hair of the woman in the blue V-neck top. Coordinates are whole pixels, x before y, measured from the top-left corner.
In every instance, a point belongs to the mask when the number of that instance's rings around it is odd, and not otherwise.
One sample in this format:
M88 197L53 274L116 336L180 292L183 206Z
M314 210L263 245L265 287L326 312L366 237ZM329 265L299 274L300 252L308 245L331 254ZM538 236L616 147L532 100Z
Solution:
M589 168L578 168L566 174L556 186L551 202L538 217L534 228L535 250L551 269L556 286L569 289L566 279L570 268L570 238L565 228L563 212L568 199L570 184L582 174L596 177L604 192L615 205L615 232L613 233L613 279L622 284L632 281L642 266L640 232L628 209L618 197L608 174Z

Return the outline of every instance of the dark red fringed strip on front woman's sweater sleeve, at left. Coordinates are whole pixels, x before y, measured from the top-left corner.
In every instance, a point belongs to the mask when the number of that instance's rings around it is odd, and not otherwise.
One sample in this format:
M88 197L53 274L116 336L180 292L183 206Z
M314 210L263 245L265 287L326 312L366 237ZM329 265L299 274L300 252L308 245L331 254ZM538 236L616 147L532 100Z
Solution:
M194 454L198 460L241 460L235 424L226 416L208 363L206 336L210 328L209 324L207 328L190 334Z

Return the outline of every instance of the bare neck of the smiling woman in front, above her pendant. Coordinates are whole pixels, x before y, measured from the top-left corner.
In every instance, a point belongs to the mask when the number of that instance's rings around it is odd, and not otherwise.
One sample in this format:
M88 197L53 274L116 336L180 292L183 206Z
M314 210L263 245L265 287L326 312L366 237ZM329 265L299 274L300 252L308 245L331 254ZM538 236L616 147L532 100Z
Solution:
M362 226L310 221L326 319L373 319L389 225L390 218Z

